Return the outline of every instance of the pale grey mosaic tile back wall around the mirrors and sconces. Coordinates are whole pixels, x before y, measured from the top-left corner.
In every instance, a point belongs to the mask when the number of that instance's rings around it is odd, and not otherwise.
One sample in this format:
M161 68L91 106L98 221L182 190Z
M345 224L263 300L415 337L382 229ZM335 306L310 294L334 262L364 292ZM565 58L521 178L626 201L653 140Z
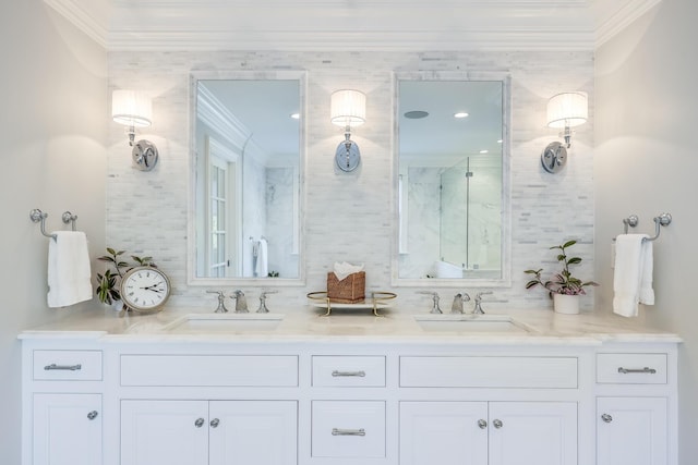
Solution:
M540 167L540 152L556 138L545 127L547 98L561 90L585 90L593 102L592 52L110 52L112 88L152 91L154 124L143 136L160 151L153 172L131 168L130 148L119 125L110 125L107 174L107 241L109 246L152 255L168 271L172 303L215 307L208 287L186 284L189 186L189 75L194 70L308 71L308 154L305 176L306 283L280 289L269 307L285 302L302 305L305 293L325 289L336 260L364 262L368 286L390 287L392 95L395 71L496 71L512 75L512 278L509 289L496 289L485 306L550 307L542 291L526 291L528 268L557 270L551 245L568 238L581 242L585 259L579 274L591 279L593 241L592 126L577 129L569 161L556 175ZM352 134L362 164L354 173L336 173L334 152L341 131L329 123L329 95L357 88L368 96L366 123ZM227 289L232 290L232 287ZM243 287L254 302L258 289ZM426 287L424 287L426 289ZM429 307L417 289L395 289L405 305ZM456 289L454 289L456 291ZM457 291L462 291L458 289ZM476 289L467 290L471 294ZM440 291L444 303L452 290ZM276 301L276 302L275 302ZM280 305L280 304L277 304ZM592 305L591 296L585 299Z

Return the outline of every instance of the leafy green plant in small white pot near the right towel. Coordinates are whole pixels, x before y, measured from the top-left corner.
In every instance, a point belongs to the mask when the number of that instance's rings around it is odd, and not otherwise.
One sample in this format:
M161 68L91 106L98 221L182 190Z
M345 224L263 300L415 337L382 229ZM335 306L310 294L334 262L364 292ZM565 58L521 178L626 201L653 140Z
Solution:
M586 294L585 287L589 285L599 285L593 281L582 281L575 278L569 270L570 265L579 265L581 262L580 257L568 256L567 249L577 244L577 241L567 241L562 245L554 245L550 247L551 250L557 249L557 261L563 266L563 269L553 276L550 281L543 281L541 272L543 269L526 270L527 274L533 274L534 279L526 283L526 289L532 289L537 285L542 285L547 290L551 298L553 298L553 306L555 311L561 314L578 314L579 313L579 295Z

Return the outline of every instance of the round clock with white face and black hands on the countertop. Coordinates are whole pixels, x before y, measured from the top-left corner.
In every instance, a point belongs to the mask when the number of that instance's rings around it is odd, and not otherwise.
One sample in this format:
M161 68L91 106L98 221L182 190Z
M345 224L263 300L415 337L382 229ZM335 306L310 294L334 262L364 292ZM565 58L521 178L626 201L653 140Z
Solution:
M133 268L121 280L121 299L135 310L160 307L167 302L170 291L170 280L156 268Z

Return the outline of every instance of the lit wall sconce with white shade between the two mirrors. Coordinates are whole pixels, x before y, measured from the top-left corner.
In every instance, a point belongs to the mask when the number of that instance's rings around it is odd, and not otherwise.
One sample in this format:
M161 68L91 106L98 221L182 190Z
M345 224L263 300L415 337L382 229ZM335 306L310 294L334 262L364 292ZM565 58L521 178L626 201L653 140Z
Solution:
M366 96L359 90L337 90L332 95L330 121L344 126L345 140L337 146L335 162L341 171L353 171L361 162L357 143L350 139L351 127L366 121Z

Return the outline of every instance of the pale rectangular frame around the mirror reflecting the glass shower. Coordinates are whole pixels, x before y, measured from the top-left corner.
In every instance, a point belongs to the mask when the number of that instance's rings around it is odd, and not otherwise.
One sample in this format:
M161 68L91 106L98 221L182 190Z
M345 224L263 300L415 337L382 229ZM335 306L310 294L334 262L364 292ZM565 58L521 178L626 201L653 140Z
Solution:
M399 82L400 81L498 81L502 83L502 230L501 257L502 273L497 279L444 279L444 278L400 278L399 238L400 218L398 212L398 175L400 163L399 144ZM393 218L393 240L390 261L390 283L404 287L510 287L512 286L512 76L504 72L452 72L452 71L405 71L393 73L393 195L390 213Z

